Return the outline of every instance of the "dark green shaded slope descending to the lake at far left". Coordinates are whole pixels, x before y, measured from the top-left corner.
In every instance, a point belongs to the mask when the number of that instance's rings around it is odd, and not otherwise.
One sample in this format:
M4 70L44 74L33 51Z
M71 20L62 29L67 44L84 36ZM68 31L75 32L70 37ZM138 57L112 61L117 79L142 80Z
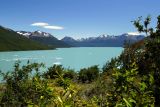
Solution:
M30 40L15 31L0 26L0 51L44 50L47 45Z

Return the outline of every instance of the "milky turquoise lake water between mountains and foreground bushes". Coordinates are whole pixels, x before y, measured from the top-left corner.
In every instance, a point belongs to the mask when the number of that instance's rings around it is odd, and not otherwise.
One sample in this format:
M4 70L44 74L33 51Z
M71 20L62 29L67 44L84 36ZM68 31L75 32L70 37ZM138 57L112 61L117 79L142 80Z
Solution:
M72 68L77 71L91 65L99 65L101 68L112 57L120 55L122 50L123 48L120 47L82 47L43 51L0 52L0 70L12 70L17 60L20 60L22 64L26 64L28 60L43 62L46 67L61 64L65 68Z

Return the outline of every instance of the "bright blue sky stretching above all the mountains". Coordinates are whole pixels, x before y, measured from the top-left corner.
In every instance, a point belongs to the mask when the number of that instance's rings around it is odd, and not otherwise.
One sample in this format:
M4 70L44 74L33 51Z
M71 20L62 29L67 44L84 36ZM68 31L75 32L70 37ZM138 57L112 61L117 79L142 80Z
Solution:
M41 30L57 38L135 32L136 29L130 21L147 15L152 16L155 24L155 17L160 15L160 0L1 0L0 2L0 25L14 30Z

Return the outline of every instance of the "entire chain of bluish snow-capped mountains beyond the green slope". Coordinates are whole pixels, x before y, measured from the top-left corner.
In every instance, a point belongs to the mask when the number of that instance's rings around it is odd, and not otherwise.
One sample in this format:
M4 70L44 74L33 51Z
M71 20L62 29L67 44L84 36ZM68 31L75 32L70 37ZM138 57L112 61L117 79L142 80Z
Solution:
M122 47L125 41L134 43L136 41L142 40L145 37L144 35L140 35L138 33L124 33L116 36L102 34L97 37L81 39L74 39L72 37L66 36L63 39L58 40L53 35L42 31L17 31L17 33L34 41L38 41L54 47Z

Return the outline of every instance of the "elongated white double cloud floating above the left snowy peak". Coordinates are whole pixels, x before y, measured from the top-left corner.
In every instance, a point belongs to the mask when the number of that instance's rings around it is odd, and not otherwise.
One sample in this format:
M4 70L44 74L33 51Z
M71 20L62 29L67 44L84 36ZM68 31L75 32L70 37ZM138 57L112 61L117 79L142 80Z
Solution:
M31 26L37 26L37 27L42 27L42 28L51 29L51 30L62 30L62 29L64 29L61 26L52 26L52 25L49 25L48 23L44 23L44 22L32 23Z

